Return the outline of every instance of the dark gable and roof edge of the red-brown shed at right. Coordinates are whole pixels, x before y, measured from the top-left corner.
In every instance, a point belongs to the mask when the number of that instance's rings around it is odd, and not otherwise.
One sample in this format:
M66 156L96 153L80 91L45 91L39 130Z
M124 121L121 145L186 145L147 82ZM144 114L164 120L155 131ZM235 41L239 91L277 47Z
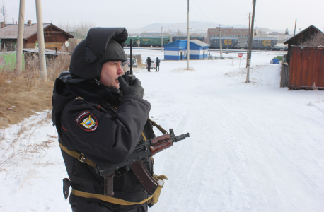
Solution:
M287 63L290 64L290 55L291 55L291 46L295 45L302 45L303 42L308 40L311 35L314 35L315 33L322 33L318 28L316 28L313 25L310 25L308 28L302 30L300 33L294 35L294 37L290 37L288 40L284 42L284 44L288 45L288 52L287 52Z

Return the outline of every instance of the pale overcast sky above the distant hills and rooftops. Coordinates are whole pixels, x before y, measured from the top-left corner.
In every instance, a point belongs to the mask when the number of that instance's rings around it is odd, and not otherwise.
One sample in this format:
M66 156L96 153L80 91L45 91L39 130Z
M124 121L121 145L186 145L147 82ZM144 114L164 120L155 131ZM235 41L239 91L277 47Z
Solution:
M6 23L12 23L12 18L16 23L19 0L1 1L5 6ZM297 18L297 32L309 25L324 32L323 8L323 0L257 0L255 25L272 30L288 28L293 34ZM190 0L190 21L248 26L248 13L252 10L252 0ZM187 22L187 0L45 0L42 1L42 16L43 22L52 21L54 25L91 21L100 27L141 28L152 23ZM3 16L0 17L3 21ZM25 0L25 23L27 20L36 23L35 1Z

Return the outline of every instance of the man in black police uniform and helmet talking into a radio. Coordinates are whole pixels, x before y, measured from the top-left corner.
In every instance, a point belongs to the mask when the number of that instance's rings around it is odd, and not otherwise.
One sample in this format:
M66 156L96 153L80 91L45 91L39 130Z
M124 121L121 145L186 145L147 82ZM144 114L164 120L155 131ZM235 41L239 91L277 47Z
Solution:
M125 28L91 28L86 40L76 46L70 71L56 79L52 97L52 121L69 179L64 179L64 196L72 211L147 211L149 193L132 170L116 170L115 199L132 204L114 204L104 196L103 177L94 166L124 161L142 139L154 138L148 122L151 105L143 99L144 89L136 79L129 86L122 74L127 61L122 43ZM76 154L76 155L74 155ZM153 175L151 158L143 158ZM77 193L78 191L81 191ZM110 197L110 196L109 196Z

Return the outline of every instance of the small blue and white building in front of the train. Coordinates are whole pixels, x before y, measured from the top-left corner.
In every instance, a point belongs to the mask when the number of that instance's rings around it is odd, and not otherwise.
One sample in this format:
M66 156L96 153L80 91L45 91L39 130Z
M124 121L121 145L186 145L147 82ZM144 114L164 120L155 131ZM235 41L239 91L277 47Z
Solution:
M164 47L164 60L187 59L187 40L169 42ZM190 40L190 59L207 59L209 45L200 40Z

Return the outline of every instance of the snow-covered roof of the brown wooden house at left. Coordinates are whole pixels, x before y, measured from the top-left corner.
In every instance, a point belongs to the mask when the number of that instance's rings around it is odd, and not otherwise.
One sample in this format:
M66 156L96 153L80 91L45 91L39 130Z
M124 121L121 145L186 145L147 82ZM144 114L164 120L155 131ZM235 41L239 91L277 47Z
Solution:
M48 26L52 25L52 23L43 23L43 28L47 28ZM55 25L52 25L54 28L58 28ZM66 35L69 35L71 37L74 37L73 35L70 35L69 33L66 33L64 30L62 30L63 33ZM37 24L33 23L32 25L24 25L23 30L23 39L28 39L30 36L35 35L37 33ZM4 28L0 28L0 39L17 39L18 37L18 24L8 24Z

